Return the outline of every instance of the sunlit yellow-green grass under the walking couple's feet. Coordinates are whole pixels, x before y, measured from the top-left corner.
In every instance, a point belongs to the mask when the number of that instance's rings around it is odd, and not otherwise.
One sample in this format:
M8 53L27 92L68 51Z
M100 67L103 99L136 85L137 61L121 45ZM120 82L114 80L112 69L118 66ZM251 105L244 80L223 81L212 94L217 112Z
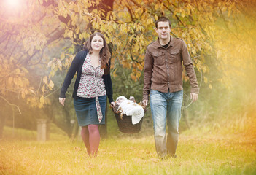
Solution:
M148 134L101 139L98 157L88 158L82 141L54 133L42 143L31 131L17 132L19 140L0 141L0 174L256 174L256 141L237 135L187 131L180 134L178 157L159 160ZM7 135L12 129L4 128Z

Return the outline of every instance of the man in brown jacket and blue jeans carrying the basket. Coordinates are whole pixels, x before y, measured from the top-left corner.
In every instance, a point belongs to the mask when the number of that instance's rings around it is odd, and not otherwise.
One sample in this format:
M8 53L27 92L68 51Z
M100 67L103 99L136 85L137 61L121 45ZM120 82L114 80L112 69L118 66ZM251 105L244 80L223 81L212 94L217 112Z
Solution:
M187 45L182 39L171 37L170 20L159 18L155 22L155 31L158 40L147 47L145 55L142 102L147 106L150 94L158 158L176 157L183 100L182 63L190 79L192 101L198 100L198 82Z

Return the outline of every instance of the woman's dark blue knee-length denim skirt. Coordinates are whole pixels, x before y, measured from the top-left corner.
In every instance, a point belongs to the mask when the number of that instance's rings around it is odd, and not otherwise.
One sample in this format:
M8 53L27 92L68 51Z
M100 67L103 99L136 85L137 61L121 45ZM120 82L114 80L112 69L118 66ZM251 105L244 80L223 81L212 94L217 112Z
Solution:
M106 112L106 96L99 96L98 101L101 106L103 118L101 123L98 122L98 114L96 109L96 98L74 98L74 109L77 114L77 121L79 126L86 126L90 124L103 125L105 124Z

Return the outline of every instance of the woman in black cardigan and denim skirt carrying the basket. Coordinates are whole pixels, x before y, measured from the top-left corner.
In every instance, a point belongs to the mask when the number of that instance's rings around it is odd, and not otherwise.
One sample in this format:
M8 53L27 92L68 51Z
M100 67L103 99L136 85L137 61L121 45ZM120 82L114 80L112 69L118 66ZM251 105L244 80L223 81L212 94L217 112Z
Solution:
M61 88L60 103L64 106L65 93L74 74L74 109L81 136L88 156L96 156L100 135L98 125L105 124L106 96L111 106L115 105L112 97L112 81L110 77L110 52L106 40L101 33L95 33L85 42L84 49L77 53L71 63Z

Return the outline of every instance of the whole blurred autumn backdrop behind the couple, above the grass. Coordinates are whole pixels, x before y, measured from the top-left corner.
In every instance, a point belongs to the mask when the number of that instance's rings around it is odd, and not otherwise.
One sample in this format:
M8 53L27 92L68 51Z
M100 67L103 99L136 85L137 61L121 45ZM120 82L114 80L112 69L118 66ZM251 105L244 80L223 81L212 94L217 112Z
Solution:
M255 0L0 1L0 138L18 138L13 128L36 131L38 119L49 121L51 133L77 138L74 82L64 107L58 96L74 55L95 31L112 52L114 99L141 101L144 53L158 37L155 20L165 15L171 35L187 44L200 86L190 104L184 71L180 132L256 139L255 9ZM106 113L101 136L117 136L112 109ZM139 134L152 134L150 108Z

